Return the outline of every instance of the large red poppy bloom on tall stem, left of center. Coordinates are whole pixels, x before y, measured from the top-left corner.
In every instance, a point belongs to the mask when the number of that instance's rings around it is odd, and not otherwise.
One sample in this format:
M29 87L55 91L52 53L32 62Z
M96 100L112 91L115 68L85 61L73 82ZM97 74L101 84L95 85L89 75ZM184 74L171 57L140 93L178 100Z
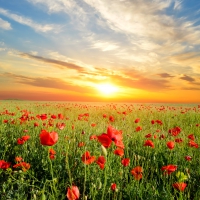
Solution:
M47 132L42 130L40 133L40 143L45 146L52 146L58 141L58 133L56 132Z

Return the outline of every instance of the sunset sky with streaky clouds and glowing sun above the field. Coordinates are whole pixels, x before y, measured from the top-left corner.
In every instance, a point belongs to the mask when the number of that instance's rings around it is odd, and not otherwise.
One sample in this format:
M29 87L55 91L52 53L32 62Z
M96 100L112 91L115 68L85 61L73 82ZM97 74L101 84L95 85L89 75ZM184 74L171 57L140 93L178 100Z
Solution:
M200 102L199 0L0 0L0 100Z

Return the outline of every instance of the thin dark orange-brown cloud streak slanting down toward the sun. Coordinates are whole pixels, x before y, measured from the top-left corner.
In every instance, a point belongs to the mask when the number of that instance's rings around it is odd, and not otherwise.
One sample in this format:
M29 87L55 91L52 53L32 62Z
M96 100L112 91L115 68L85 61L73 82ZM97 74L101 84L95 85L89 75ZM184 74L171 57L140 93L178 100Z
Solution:
M41 62L57 65L61 69L68 68L68 69L74 69L74 70L77 70L80 72L84 70L82 67L80 67L76 64L65 62L65 61L44 58L42 56L35 56L35 55L28 54L28 53L20 53L19 55L23 58L30 58L30 59L38 60Z

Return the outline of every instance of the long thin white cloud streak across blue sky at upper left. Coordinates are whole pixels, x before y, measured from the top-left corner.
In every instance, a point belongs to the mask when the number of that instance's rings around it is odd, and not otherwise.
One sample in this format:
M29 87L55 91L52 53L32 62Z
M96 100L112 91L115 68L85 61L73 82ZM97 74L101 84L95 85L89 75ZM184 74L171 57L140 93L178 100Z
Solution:
M4 16L6 16L6 17L8 17L8 18L20 23L20 24L29 26L37 32L43 32L43 33L49 32L49 31L57 32L61 28L59 25L55 25L55 24L39 24L39 23L36 23L30 18L11 13L10 11L5 10L3 8L0 8L0 14L4 15Z

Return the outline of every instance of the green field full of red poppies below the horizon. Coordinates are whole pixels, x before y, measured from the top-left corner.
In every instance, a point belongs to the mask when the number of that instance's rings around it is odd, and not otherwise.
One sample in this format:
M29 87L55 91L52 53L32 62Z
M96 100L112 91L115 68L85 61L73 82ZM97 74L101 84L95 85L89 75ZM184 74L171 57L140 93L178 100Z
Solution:
M199 200L200 105L0 101L2 200Z

